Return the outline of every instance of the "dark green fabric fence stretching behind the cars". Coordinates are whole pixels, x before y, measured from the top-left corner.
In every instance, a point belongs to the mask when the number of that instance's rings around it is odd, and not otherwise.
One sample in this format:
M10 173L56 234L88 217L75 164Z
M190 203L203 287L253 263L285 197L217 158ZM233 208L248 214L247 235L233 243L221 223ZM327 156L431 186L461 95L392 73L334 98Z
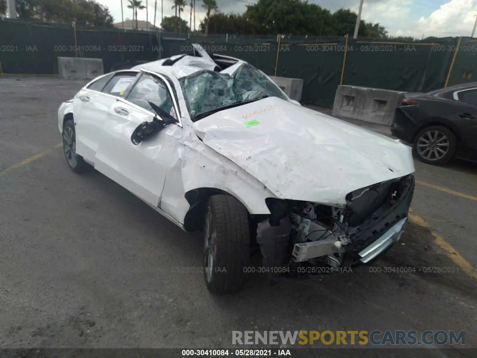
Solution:
M332 107L340 84L427 92L475 81L477 40L447 37L409 43L346 37L181 35L65 24L0 21L3 74L58 74L58 56L118 63L154 61L191 53L238 57L268 75L303 80L301 102ZM344 66L343 66L344 64ZM343 71L344 68L344 71Z

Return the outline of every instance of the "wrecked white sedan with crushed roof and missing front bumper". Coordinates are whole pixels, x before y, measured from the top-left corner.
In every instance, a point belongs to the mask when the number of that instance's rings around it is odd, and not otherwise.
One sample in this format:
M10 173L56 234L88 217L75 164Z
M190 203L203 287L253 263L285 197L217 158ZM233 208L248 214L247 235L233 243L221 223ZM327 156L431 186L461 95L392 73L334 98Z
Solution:
M62 103L75 173L92 166L183 230L203 229L213 294L239 291L249 272L339 272L399 240L414 192L409 147L195 46L100 76Z

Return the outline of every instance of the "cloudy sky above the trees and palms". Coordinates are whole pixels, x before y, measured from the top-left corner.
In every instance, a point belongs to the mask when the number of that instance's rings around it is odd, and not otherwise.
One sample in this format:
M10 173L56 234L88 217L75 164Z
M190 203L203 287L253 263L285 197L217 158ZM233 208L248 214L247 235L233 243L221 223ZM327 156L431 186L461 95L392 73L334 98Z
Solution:
M121 0L97 0L106 5L115 22L121 21ZM190 0L186 0L188 2ZM258 0L217 0L222 12L242 13L248 4ZM143 4L145 5L145 0ZM348 8L358 11L359 0L309 0L330 11ZM172 0L163 0L164 16L174 15ZM205 17L200 7L202 1L196 0L196 28ZM127 9L127 0L123 0L124 19L132 19L132 10ZM148 0L149 22L154 19L154 0ZM182 18L189 20L190 8L187 6ZM362 19L379 22L391 35L427 36L470 36L477 15L477 0L364 0ZM146 20L146 11L138 11L138 20ZM156 24L161 19L161 0L157 1Z

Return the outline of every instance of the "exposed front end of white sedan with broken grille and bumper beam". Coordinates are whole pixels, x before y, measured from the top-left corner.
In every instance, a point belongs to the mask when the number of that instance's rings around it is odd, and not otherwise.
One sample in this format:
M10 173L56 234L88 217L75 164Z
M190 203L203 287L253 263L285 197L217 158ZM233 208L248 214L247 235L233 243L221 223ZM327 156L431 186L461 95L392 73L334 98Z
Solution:
M369 262L399 240L414 185L412 175L373 184L346 195L346 205L270 199L270 218L257 227L264 266L340 271Z

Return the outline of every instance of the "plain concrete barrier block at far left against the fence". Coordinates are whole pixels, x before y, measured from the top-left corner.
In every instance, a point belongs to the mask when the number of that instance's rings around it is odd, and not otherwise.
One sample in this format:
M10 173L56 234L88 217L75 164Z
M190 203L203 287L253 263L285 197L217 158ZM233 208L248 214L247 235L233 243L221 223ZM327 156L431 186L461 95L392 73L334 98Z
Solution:
M100 58L58 57L60 78L96 78L104 74Z

